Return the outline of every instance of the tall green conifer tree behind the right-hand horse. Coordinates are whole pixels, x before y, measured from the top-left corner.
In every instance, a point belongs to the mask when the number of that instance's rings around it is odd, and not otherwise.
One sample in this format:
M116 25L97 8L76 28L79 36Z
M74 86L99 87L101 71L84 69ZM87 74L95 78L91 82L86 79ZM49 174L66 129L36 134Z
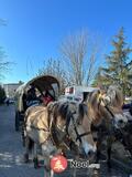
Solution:
M106 56L107 66L100 67L95 83L119 85L124 95L132 94L132 49L125 43L124 30L120 29L112 40L113 51Z

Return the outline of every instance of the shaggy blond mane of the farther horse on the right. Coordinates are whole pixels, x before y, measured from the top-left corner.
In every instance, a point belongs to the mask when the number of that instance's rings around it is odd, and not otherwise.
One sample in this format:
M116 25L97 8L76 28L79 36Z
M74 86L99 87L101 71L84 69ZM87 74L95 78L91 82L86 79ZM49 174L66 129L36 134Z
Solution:
M108 117L108 112L105 106L101 104L101 100L109 97L109 106L111 108L118 107L121 108L123 104L123 95L119 87L110 85L107 92L103 90L95 91L88 96L88 116L94 123L100 122L101 118Z

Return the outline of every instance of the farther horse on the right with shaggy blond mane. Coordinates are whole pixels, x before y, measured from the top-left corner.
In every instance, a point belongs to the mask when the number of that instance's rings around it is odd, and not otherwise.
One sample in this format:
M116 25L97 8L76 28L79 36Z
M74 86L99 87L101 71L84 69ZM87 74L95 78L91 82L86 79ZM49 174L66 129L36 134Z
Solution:
M114 129L125 126L128 119L122 111L123 96L117 86L110 86L107 92L97 91L88 97L88 116L92 119L92 131L97 132L97 162L100 147L107 139L108 165L110 166L111 146Z

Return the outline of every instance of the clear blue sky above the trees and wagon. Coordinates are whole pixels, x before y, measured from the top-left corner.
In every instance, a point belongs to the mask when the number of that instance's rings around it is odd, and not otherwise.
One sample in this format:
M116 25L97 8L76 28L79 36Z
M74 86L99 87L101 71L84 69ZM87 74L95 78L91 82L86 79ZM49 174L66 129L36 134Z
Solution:
M110 49L110 39L124 27L132 43L131 0L0 0L0 46L13 61L4 83L28 81L48 58L59 58L59 44L69 33L88 29ZM105 46L106 48L106 46Z

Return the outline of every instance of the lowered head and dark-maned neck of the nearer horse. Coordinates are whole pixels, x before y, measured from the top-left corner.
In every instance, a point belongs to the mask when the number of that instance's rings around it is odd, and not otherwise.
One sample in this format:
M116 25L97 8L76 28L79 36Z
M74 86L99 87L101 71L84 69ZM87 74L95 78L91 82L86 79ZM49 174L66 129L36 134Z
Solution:
M91 121L87 116L87 106L72 102L58 105L56 126L77 145L79 154L87 157L96 152L91 134Z

